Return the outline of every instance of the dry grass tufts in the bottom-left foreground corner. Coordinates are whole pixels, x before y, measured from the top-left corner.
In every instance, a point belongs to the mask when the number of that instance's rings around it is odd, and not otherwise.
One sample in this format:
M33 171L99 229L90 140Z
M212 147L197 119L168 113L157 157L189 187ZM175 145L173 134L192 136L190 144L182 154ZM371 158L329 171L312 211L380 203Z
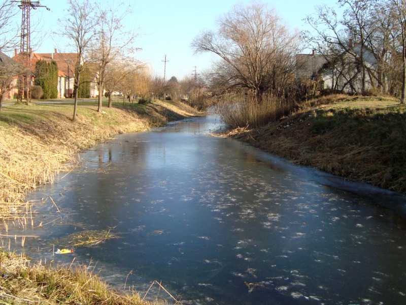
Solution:
M0 251L2 304L163 304L144 301L130 290L119 292L101 281L91 266L50 268L31 265L23 255Z

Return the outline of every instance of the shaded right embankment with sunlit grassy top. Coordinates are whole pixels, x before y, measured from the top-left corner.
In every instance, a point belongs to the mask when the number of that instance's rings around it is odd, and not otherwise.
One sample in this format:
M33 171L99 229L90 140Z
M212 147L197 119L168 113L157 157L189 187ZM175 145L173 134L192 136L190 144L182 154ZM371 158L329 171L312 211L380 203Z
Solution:
M301 165L406 194L406 105L394 98L336 95L229 136Z

